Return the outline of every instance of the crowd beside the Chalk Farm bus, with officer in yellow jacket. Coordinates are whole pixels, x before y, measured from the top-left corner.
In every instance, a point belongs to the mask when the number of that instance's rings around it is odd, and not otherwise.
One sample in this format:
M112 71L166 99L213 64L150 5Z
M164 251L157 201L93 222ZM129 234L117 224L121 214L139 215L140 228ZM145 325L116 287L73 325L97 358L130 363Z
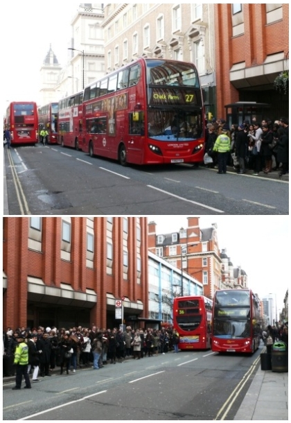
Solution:
M247 169L253 175L279 171L281 178L289 171L289 120L286 117L274 123L270 119L261 123L256 119L245 120L242 125L233 123L229 128L224 119L213 118L206 126L205 152L212 159L208 166L219 169L218 173L226 173L226 169L222 172L220 168L220 160L225 156L227 164L238 173L246 173Z

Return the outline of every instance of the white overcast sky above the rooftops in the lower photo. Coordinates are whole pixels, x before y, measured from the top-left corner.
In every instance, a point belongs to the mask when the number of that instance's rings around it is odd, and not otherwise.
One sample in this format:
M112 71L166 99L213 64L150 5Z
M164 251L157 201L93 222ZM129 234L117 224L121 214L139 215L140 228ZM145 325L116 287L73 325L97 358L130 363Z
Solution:
M150 221L157 224L157 235L188 226L187 216L148 216ZM218 225L220 251L226 248L233 266L245 270L248 287L261 298L275 293L281 310L289 280L289 216L200 217L201 229L211 227L212 223Z

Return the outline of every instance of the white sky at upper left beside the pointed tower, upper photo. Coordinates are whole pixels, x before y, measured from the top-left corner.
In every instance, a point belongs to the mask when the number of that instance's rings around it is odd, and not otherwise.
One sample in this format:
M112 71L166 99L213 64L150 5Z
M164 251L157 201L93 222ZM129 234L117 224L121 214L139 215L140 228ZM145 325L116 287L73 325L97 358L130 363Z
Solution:
M50 44L62 67L67 63L71 21L79 5L68 0L2 3L2 113L10 101L39 101L39 70Z

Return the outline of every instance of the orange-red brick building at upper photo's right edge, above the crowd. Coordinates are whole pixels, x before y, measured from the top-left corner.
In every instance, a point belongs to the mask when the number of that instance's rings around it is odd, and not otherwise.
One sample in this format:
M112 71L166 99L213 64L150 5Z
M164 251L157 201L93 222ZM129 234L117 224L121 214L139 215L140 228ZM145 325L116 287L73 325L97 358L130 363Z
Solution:
M218 117L238 101L269 103L263 117L273 121L288 116L288 95L274 89L274 80L289 69L289 4L216 3L215 17Z

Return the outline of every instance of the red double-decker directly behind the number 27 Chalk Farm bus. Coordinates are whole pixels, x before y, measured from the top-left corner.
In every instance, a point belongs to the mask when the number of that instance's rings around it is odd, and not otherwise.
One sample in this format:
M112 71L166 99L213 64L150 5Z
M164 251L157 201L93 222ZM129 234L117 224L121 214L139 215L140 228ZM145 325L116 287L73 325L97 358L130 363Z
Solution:
M58 143L78 150L82 141L83 92L59 101Z

